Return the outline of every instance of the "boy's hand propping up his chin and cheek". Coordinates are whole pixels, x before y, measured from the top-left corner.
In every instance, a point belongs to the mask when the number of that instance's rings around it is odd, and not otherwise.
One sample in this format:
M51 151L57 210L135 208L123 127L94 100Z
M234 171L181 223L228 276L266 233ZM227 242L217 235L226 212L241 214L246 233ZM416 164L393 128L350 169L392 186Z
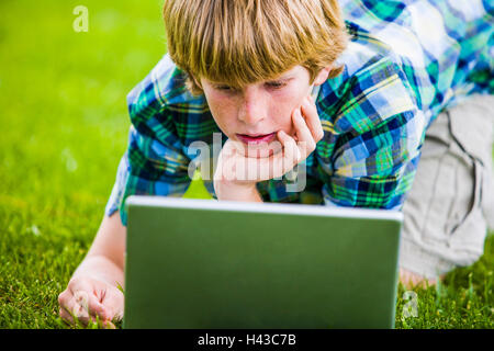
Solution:
M279 151L267 157L247 157L252 152L244 143L228 139L222 148L214 173L214 189L218 200L235 200L256 183L281 178L307 158L323 136L323 126L315 103L306 97L300 107L292 111L295 135L278 131ZM266 151L266 150L265 150ZM259 154L257 154L259 155Z

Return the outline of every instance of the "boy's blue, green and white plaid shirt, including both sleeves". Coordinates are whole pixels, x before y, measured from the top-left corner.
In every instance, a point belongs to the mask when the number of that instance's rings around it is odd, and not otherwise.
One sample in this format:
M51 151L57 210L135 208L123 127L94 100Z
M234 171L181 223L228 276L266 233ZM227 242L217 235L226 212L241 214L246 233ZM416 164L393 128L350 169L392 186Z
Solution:
M259 182L266 202L401 210L425 131L461 97L494 93L494 8L485 0L340 0L351 41L344 72L321 86L325 132L305 160L306 186ZM132 126L105 213L131 194L181 196L191 179L188 148L211 145L216 126L203 95L166 55L128 94ZM204 181L216 199L213 182Z

